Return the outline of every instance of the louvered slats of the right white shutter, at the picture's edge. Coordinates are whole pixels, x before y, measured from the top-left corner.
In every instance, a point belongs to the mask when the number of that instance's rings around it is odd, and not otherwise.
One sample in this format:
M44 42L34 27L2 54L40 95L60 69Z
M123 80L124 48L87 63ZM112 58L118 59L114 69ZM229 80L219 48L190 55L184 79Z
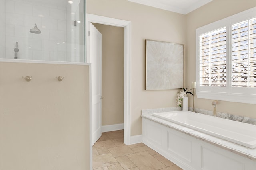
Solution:
M256 18L232 25L232 87L256 87Z

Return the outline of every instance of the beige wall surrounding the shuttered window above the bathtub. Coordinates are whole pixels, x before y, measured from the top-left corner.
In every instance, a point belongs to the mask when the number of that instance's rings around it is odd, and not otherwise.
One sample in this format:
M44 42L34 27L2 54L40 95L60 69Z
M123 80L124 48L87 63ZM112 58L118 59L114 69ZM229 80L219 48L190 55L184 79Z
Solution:
M196 80L196 28L256 6L256 0L214 0L186 15L186 87ZM216 10L217 9L217 10ZM189 106L192 106L189 96ZM213 110L212 100L195 98L195 107ZM217 111L256 118L256 105L220 101Z

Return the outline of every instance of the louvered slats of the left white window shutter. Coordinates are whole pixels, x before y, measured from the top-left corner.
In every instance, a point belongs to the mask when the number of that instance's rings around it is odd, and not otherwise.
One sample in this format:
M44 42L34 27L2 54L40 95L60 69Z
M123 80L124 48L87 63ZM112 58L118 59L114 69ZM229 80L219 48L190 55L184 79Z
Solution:
M226 86L226 28L199 37L200 86Z

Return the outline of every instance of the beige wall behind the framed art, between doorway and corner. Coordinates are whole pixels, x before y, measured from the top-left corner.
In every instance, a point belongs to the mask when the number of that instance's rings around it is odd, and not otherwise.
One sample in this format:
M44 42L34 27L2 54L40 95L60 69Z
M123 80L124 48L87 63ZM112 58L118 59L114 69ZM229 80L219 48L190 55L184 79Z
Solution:
M142 109L176 107L177 90L145 89L145 39L185 44L182 14L126 0L87 0L86 12L131 21L131 135L142 134Z

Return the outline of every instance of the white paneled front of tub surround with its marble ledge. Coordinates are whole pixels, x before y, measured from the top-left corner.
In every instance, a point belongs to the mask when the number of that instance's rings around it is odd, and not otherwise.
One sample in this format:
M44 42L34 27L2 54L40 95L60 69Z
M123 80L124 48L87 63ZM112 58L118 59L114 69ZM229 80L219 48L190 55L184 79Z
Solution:
M151 112L151 113L146 113ZM253 170L250 149L142 111L142 142L184 170Z

